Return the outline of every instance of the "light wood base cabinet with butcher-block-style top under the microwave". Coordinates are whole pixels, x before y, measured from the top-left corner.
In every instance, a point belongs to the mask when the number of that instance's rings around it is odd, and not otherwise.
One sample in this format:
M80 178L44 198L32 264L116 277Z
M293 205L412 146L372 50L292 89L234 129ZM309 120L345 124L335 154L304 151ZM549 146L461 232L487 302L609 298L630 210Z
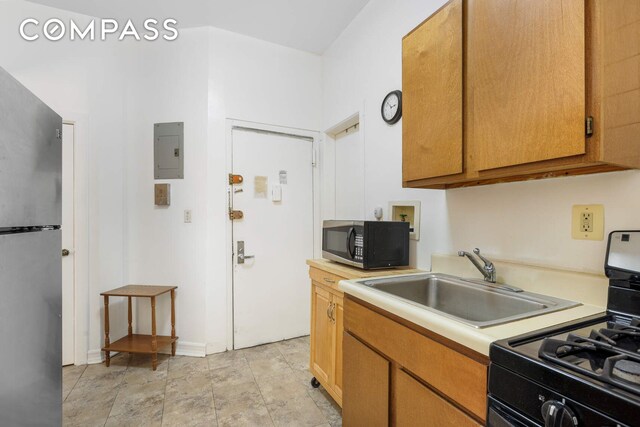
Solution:
M340 280L418 273L415 269L360 270L327 260L309 260L311 278L311 348L309 370L342 406L344 293ZM314 383L318 385L318 383Z

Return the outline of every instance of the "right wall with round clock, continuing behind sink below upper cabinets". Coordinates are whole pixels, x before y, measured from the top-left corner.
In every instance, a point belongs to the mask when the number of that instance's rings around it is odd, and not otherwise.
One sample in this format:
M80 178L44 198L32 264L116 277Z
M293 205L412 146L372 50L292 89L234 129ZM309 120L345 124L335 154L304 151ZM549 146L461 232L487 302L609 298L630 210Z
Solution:
M422 200L417 265L432 252L480 247L488 256L602 273L604 241L571 238L573 204L605 205L605 231L640 228L640 172L618 172L448 191L401 186L401 126L379 115L401 88L401 38L444 0L371 0L324 55L323 128L365 113L367 217L393 199ZM364 107L363 107L364 105Z

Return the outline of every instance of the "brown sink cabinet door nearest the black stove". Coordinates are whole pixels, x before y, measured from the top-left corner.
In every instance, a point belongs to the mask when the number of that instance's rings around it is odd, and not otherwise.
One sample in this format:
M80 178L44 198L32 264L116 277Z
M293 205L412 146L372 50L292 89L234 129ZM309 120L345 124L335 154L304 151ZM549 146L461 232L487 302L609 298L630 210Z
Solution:
M476 421L436 393L396 369L393 411L397 427L479 427Z

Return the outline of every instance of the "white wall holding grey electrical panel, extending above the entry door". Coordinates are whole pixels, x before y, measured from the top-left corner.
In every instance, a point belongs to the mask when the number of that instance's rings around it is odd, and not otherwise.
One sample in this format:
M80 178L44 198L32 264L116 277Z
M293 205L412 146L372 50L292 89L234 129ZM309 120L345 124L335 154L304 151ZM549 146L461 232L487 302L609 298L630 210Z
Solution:
M126 97L127 272L132 283L179 286L183 353L227 346L226 119L318 129L320 57L231 32L182 31L171 44L136 45ZM185 179L169 208L153 206L153 123L185 122ZM236 171L241 173L241 171ZM168 181L169 182L169 181ZM184 209L193 222L183 223ZM139 324L149 328L148 308ZM168 306L159 307L168 333ZM180 348L180 347L179 347Z

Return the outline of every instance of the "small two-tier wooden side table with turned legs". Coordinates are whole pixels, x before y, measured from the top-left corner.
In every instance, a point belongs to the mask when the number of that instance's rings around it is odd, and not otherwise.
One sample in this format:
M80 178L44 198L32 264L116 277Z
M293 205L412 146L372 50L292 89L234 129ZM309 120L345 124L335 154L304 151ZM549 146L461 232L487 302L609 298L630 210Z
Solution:
M175 296L177 286L150 286L150 285L128 285L100 295L104 297L104 347L105 363L107 367L111 363L110 352L119 351L125 353L151 354L151 366L155 371L158 367L158 349L171 344L171 355L176 355L176 304ZM171 336L156 335L156 297L171 293ZM114 343L109 341L109 297L127 297L129 300L129 333ZM133 333L131 299L150 298L151 299L151 335L140 335Z

